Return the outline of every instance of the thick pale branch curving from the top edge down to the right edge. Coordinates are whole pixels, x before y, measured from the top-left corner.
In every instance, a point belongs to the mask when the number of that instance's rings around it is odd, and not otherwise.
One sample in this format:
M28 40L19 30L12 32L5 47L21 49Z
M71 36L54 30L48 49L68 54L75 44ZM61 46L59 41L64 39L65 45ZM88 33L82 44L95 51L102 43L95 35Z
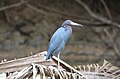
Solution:
M91 9L84 2L82 2L81 0L75 0L75 1L77 3L79 3L80 5L82 5L85 8L85 10L91 15L91 17L93 17L93 18L95 18L97 20L100 20L100 21L102 21L104 23L111 24L113 26L116 26L116 27L120 28L120 24L118 24L116 22L112 22L111 20L108 20L108 19L106 19L106 18L104 18L102 16L98 16L97 14L93 13L91 11Z

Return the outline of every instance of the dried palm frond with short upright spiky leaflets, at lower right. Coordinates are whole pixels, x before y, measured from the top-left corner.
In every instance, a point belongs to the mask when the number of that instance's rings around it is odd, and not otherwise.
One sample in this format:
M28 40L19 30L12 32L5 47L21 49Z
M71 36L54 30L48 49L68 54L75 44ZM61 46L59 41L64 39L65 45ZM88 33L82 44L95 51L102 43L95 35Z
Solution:
M96 63L90 65L78 65L74 66L74 68L91 79L93 79L93 77L95 79L120 79L120 69L106 60L104 60L101 66Z

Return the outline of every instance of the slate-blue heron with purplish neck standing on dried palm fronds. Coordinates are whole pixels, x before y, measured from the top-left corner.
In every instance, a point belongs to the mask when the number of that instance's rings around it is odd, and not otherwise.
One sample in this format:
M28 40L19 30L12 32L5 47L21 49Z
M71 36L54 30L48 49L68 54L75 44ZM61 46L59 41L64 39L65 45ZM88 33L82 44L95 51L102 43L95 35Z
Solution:
M60 53L65 47L67 40L72 34L71 26L82 26L82 25L72 22L71 20L66 20L65 22L63 22L61 27L53 34L48 45L48 53L46 55L46 60L50 59L54 53L57 53L58 67L60 65L59 64Z

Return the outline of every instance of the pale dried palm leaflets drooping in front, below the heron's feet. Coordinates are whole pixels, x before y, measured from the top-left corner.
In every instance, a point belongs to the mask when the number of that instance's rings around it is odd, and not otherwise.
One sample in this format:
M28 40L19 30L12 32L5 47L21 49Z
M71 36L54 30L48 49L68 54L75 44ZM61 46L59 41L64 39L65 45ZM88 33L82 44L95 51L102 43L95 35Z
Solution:
M29 79L31 77L33 79L86 79L77 73L38 64L32 64L30 67L26 67L15 74L13 73L6 79Z

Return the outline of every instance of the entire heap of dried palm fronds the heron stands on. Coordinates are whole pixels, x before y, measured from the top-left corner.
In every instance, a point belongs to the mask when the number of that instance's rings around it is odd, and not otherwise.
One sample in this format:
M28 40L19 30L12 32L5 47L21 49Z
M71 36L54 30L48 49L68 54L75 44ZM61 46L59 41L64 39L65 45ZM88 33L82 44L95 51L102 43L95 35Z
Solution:
M57 57L45 61L45 53L0 63L0 79L120 79L120 69L106 60L102 65L74 67L60 60L61 68L57 68Z

